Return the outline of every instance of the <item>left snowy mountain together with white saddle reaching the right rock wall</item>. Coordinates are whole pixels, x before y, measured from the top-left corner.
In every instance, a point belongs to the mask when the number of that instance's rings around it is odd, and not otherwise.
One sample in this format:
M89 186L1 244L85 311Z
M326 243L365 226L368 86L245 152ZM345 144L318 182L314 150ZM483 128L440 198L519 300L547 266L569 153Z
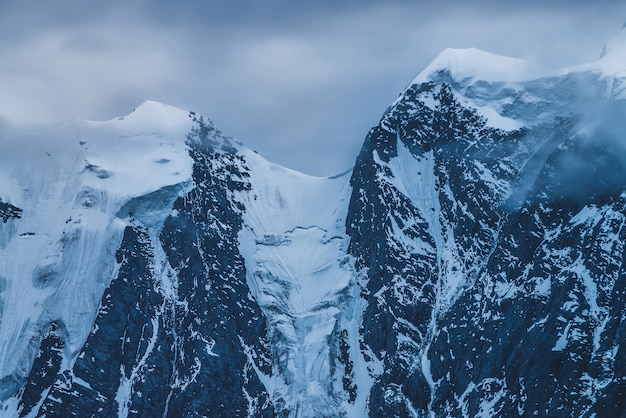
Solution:
M1 224L6 414L167 411L214 368L251 385L241 397L248 405L238 406L251 415L269 405L301 416L355 409L345 366L333 360L337 329L358 329L343 229L348 173L313 178L271 164L201 116L155 102L2 145L10 156ZM243 321L236 330L215 330L223 309ZM211 315L216 322L196 323ZM247 329L255 321L260 334ZM238 339L232 377L229 341ZM228 364L219 365L222 356ZM102 362L119 375L102 375ZM156 364L172 368L162 381L169 389L145 387ZM352 374L371 385L365 369ZM137 399L143 392L161 399L148 406ZM214 413L241 403L205 396ZM358 409L365 402L363 392Z

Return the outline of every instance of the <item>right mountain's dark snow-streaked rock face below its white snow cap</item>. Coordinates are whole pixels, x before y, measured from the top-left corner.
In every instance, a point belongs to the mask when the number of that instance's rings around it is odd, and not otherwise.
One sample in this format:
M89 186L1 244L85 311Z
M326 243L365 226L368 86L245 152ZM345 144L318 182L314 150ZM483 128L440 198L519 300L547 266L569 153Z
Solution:
M416 81L351 179L370 414L621 416L621 82Z

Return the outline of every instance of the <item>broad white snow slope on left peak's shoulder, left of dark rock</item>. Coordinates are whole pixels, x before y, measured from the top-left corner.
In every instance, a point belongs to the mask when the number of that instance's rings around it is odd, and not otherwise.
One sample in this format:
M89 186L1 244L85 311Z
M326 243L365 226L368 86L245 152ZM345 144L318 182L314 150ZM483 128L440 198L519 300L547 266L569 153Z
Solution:
M192 123L187 112L145 102L123 118L0 142L0 195L21 209L19 220L0 224L0 376L13 381L3 391L26 378L51 321L63 322L68 353L81 349L131 216L120 210L170 187L151 214L160 227L191 182L184 137Z

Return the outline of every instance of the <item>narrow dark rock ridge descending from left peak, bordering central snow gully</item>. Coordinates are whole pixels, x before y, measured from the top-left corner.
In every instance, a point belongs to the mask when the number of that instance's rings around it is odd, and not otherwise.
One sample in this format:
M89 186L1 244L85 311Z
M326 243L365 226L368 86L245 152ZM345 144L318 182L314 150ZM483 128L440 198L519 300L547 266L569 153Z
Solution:
M161 232L178 272L178 327L171 416L273 416L259 374L270 374L265 318L246 284L237 234L249 169L228 138L200 121L189 143L195 188ZM219 133L218 133L219 134ZM207 138L208 137L208 138ZM207 140L208 139L208 140Z

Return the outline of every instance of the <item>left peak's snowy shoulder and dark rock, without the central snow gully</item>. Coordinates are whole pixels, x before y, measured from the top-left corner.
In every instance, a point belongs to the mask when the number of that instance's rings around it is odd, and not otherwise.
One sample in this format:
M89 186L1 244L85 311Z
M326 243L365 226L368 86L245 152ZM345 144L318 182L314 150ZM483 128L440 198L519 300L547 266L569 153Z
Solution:
M193 114L162 107L63 128L59 137L80 135L72 138L79 150L65 154L77 165L51 163L64 170L58 194L38 191L43 197L6 224L7 416L273 410L259 380L271 372L265 319L238 251L243 207L234 196L249 188L239 145ZM49 187L39 177L13 178L25 194L33 184ZM44 270L42 250L26 240L45 228L58 234L44 240L54 249ZM32 266L31 282L24 269ZM28 296L39 299L23 306Z

